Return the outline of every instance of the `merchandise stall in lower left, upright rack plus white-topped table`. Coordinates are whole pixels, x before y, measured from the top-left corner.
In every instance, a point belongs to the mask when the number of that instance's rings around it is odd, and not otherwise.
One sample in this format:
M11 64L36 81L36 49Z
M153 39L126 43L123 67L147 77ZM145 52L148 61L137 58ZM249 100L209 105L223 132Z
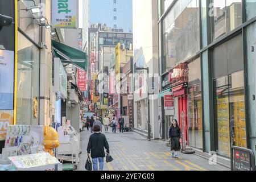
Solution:
M43 139L43 126L11 125L7 128L1 160L8 161L7 166L16 171L61 171L62 164L45 151Z

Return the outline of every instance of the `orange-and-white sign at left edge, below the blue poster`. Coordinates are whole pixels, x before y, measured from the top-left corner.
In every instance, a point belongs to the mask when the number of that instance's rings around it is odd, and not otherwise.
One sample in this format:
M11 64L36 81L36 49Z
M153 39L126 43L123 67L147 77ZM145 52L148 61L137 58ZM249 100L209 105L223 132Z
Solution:
M13 125L13 111L0 110L0 141L5 140L9 125Z

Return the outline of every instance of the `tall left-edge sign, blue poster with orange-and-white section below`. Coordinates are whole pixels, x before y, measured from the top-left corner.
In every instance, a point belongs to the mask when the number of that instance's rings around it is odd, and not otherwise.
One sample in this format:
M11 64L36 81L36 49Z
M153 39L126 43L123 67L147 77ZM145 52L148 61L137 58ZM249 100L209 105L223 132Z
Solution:
M0 50L0 141L5 140L7 126L13 125L14 52Z

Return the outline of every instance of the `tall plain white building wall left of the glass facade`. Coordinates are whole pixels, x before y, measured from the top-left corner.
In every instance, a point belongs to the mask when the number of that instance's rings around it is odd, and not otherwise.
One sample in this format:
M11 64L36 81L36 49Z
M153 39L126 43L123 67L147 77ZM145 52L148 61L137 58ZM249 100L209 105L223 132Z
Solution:
M151 17L151 18L150 18ZM158 76L158 1L157 0L133 0L133 48L134 63L144 56L144 68L149 67L150 77ZM146 71L145 71L146 73ZM144 75L142 96L139 89L134 91L134 110L137 102L147 99L147 76ZM136 80L134 80L136 82ZM138 81L137 81L138 82ZM157 85L157 84L156 84ZM158 93L155 93L158 94ZM147 101L142 102L142 128L147 125ZM158 96L150 100L150 121L153 139L159 138L158 122ZM134 123L137 122L137 113L134 112ZM135 128L137 125L135 125Z

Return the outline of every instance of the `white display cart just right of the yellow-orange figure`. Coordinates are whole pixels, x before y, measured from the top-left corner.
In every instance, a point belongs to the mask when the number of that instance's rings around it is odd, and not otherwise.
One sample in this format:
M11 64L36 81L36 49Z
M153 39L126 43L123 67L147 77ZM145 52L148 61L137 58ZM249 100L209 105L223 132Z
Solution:
M71 125L60 126L57 132L60 141L60 146L57 148L57 158L58 156L67 155L69 151L75 158L66 158L66 160L78 164L79 154L81 153L80 134Z

